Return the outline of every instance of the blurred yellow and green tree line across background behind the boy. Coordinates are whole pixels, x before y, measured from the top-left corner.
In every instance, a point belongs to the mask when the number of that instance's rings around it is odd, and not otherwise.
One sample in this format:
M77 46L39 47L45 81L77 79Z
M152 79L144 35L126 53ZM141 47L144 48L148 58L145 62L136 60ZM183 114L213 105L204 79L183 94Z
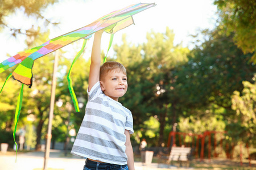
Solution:
M233 33L226 36L220 28L203 31L203 35L205 41L191 52L173 44L174 33L169 28L164 33L147 33L144 44L131 44L124 35L123 43L114 45L115 56L110 60L123 63L129 83L126 95L119 101L133 113L133 139L137 143L146 138L148 146L167 144L174 123L178 123L178 131L228 130L226 141L253 143L255 80L251 78L256 68L249 62L253 54L244 54L234 44ZM42 44L47 38L48 33L34 43ZM27 117L34 116L30 123L36 127L38 144L47 129L53 54L36 60L33 86L24 88L18 128L27 124ZM79 113L67 108L72 103L66 79L71 63L72 59L65 58L60 51L55 101L61 100L63 105L55 106L52 122L52 139L58 142L65 141L68 125L79 129L87 100L90 61L80 57L71 77L79 103L84 106ZM8 71L0 75L0 84ZM1 94L1 129L10 131L13 126L19 88L19 83L10 79ZM35 145L32 135L30 131L27 137L31 147Z

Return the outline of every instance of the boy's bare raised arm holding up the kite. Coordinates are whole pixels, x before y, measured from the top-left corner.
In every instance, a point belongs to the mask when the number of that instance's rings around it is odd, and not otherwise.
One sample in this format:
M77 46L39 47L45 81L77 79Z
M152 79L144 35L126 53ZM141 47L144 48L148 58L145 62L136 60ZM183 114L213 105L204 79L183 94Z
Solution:
M88 80L88 91L92 89L95 83L100 80L101 67L101 35L104 30L100 30L94 34L92 57L90 58L90 73Z

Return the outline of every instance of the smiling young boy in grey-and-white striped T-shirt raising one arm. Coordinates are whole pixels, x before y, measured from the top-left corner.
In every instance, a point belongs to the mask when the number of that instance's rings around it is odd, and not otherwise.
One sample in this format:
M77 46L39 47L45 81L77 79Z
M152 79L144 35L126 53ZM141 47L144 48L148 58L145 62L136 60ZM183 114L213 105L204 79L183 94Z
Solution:
M118 102L127 91L121 63L101 66L101 35L94 35L89 73L88 103L71 154L87 158L84 169L134 169L133 116Z

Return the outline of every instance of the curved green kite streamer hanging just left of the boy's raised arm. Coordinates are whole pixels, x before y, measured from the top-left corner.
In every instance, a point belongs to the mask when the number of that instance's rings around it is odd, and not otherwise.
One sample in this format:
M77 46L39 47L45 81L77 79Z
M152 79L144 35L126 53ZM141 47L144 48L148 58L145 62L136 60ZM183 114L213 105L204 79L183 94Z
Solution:
M85 45L86 45L86 41L87 39L84 39L84 43L82 44L82 49L79 51L79 53L76 54L76 57L75 59L73 60L72 62L72 65L69 69L69 72L68 72L68 89L69 89L69 93L71 94L71 98L73 100L73 103L74 103L74 106L75 106L75 109L76 109L76 112L80 112L80 109L79 109L79 104L78 104L78 101L77 101L77 98L76 98L76 94L74 92L74 89L73 89L73 86L72 86L72 79L70 77L70 74L71 74L71 70L72 70L72 67L73 67L73 64L77 61L77 59L81 56L82 52L84 52L84 48L85 48Z

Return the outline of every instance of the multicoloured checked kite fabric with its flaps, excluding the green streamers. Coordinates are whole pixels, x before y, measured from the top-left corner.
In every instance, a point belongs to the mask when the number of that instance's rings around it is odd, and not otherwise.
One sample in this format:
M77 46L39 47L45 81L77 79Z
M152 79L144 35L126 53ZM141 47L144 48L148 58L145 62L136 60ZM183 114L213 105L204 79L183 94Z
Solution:
M97 32L100 29L104 29L105 32L108 33L115 33L120 29L134 24L132 15L146 10L152 6L155 6L155 3L139 3L137 5L131 5L129 7L123 8L122 10L117 10L108 15L105 15L102 18L97 19L95 22L86 25L85 27L56 37L55 39L49 40L35 48L20 52L0 63L0 73L16 65L17 63L22 62L21 65L19 65L14 71L13 76L16 80L30 85L32 77L31 69L35 59L43 57L48 53L51 53L82 38L89 39L94 32Z

